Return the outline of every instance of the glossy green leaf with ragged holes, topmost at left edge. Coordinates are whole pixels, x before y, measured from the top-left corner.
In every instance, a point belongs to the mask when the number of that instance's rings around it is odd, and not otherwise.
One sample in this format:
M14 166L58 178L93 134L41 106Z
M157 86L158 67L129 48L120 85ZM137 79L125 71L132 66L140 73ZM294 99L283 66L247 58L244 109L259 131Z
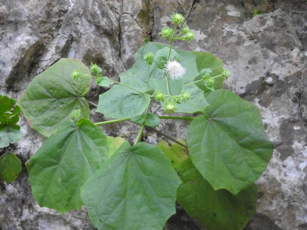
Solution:
M20 108L16 100L0 95L0 128L6 124L15 125L19 121Z

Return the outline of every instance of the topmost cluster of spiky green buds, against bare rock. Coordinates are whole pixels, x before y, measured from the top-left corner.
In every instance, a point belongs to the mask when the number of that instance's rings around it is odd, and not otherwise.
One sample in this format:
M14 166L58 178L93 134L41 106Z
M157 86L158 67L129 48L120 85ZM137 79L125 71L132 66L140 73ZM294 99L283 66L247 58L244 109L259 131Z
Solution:
M181 13L174 13L171 15L170 21L175 24L176 29L178 25L181 26L185 23L185 17ZM176 33L175 29L165 26L161 29L160 35L163 39L185 40L187 42L195 39L195 33L188 26L181 29L181 32L176 37L174 37ZM180 36L181 34L183 34L183 36Z

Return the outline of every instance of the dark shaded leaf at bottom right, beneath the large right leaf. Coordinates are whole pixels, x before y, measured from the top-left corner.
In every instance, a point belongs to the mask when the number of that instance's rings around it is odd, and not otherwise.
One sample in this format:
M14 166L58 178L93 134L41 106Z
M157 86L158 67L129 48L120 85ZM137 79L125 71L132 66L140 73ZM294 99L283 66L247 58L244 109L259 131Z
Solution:
M225 189L214 190L190 159L179 169L182 184L177 201L190 217L210 230L241 230L254 215L257 186L251 184L237 195Z

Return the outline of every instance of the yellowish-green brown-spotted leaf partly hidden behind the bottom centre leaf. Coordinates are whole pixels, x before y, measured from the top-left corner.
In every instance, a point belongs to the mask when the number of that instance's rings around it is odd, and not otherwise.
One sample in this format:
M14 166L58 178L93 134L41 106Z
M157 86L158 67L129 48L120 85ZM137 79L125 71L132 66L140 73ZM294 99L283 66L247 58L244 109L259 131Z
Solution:
M178 139L178 141L182 144L186 144L183 139ZM163 151L176 170L180 167L181 163L188 158L188 150L175 142L169 145L168 142L162 140L158 143L157 147Z

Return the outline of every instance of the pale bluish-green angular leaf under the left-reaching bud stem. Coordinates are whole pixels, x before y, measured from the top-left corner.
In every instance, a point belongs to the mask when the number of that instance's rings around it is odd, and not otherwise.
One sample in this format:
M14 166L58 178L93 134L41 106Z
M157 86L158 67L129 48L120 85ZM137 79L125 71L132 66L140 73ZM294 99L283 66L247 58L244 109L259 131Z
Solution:
M126 118L141 115L150 102L150 96L140 94L125 86L115 85L104 94L99 95L96 112L105 117Z

